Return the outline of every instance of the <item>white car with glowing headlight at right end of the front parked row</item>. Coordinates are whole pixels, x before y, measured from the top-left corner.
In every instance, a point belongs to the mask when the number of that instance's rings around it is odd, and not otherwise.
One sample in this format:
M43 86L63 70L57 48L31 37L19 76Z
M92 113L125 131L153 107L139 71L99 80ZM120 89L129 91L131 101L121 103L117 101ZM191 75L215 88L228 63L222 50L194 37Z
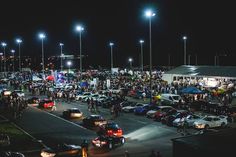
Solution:
M208 129L215 127L224 128L228 124L227 116L206 116L193 123L196 129Z

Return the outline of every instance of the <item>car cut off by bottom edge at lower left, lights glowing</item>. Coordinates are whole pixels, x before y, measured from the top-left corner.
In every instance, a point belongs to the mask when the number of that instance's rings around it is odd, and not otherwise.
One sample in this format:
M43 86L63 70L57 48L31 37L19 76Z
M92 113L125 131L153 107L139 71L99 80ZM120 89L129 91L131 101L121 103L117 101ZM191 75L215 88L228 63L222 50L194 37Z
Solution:
M58 144L56 147L41 150L41 157L82 157L82 148L78 145Z

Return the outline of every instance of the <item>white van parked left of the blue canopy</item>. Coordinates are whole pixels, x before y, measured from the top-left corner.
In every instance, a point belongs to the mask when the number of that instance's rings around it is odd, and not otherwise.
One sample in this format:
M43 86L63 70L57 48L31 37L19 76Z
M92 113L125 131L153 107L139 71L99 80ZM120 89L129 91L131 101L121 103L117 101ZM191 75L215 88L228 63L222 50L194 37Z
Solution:
M180 100L182 100L182 98L177 94L161 94L161 103L163 105L175 106Z

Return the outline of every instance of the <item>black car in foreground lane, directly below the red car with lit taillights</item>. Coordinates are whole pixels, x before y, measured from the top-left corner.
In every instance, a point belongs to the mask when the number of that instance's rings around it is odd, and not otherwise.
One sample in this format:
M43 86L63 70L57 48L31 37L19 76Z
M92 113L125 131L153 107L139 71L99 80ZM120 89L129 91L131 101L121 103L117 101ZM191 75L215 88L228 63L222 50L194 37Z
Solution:
M123 145L125 143L125 138L123 136L98 136L94 140L92 140L92 144L94 147L98 148L108 148L113 149L116 146Z

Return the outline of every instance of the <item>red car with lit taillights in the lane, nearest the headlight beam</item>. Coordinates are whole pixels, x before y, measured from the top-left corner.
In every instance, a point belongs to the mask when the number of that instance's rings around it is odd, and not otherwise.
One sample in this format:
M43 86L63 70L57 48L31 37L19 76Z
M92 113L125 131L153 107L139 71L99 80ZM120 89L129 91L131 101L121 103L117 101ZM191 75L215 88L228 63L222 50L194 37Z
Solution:
M99 136L116 136L116 137L122 137L123 131L118 126L118 124L114 122L108 122L107 124L103 124L99 127L99 131L97 132Z

